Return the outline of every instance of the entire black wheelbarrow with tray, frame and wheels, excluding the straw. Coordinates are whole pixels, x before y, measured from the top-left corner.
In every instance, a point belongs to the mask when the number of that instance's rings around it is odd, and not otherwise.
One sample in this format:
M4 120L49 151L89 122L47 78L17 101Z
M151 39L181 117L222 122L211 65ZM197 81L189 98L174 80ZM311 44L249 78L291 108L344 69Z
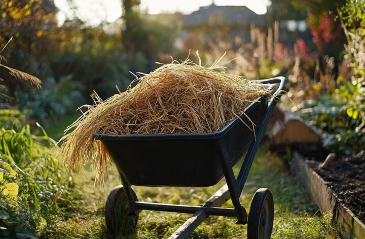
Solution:
M154 210L194 214L169 238L186 238L208 216L236 217L237 224L247 225L248 238L270 238L274 201L269 189L259 189L247 212L239 197L252 161L263 138L268 120L284 88L285 78L257 80L272 89L271 96L261 96L249 105L241 119L235 119L223 129L203 134L159 135L100 135L100 140L112 156L119 170L122 185L108 196L105 221L114 232L118 217L116 207L127 210L134 225L140 210ZM242 122L244 121L244 123ZM247 152L247 153L246 153ZM246 153L237 179L233 166ZM223 177L226 185L202 206L185 206L138 201L131 185L207 187ZM234 208L221 208L232 199Z

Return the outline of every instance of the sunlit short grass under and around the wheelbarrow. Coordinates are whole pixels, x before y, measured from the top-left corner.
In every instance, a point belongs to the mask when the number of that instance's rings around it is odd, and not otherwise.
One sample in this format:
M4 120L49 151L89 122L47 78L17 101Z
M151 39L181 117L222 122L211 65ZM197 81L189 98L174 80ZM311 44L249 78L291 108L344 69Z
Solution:
M239 166L235 167L237 173ZM52 225L48 238L108 238L103 218L108 193L120 184L115 167L109 170L104 191L93 186L94 170L87 167L75 175L71 194L63 195L67 217ZM224 184L207 188L133 187L139 200L199 205ZM298 179L290 176L282 160L268 154L265 147L252 165L241 195L246 210L258 188L270 188L274 195L275 219L272 238L337 238L331 215L322 215L309 198ZM232 207L231 201L225 207ZM165 238L176 230L189 215L142 211L136 230L120 238ZM246 238L247 226L236 225L234 218L209 217L191 235L191 238ZM53 228L53 229L52 229Z

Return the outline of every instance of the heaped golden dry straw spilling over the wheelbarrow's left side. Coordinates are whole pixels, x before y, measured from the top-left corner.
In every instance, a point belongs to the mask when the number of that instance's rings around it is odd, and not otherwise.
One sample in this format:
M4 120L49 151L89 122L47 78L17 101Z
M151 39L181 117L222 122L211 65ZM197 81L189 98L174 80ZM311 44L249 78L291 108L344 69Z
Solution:
M97 164L96 180L103 183L103 167L111 159L94 139L100 129L111 135L216 132L269 94L261 84L216 68L172 61L137 77L125 92L105 101L96 96L95 105L82 107L86 111L60 140L69 172L91 160Z

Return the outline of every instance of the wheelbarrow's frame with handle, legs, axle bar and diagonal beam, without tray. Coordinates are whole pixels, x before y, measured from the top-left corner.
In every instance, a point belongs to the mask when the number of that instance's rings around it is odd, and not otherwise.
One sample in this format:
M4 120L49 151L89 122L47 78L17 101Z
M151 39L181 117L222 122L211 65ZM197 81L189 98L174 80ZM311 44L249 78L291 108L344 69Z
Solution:
M121 174L122 184L125 188L126 196L129 200L132 211L136 213L138 210L151 210L151 211L164 211L164 212L177 212L177 213L193 213L193 216L189 218L184 224L182 224L169 238L187 238L194 229L204 221L208 216L226 216L236 217L237 224L247 224L247 212L241 205L239 197L242 193L243 186L246 182L248 172L251 168L253 159L259 149L260 142L264 136L266 126L268 124L270 115L281 96L281 91L284 88L285 78L275 77L266 80L255 80L253 82L260 82L263 84L278 84L279 87L272 95L268 107L262 116L262 119L255 131L255 140L251 142L250 147L246 153L245 159L241 165L240 172L237 179L234 176L233 168L228 156L227 146L222 141L218 141L217 147L222 148L222 155L220 162L222 164L224 177L226 184L216 191L202 206L185 206L179 204L164 204L164 203L151 203L136 201L133 196L131 185L124 179ZM234 209L221 208L221 206L231 199Z

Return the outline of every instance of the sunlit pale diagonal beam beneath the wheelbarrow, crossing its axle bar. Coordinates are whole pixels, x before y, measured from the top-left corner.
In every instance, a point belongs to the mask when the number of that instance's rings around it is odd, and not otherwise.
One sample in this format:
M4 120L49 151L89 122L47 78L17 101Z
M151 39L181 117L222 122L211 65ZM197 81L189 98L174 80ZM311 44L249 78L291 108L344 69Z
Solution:
M220 190L216 191L205 204L202 206L202 210L196 212L191 216L184 224L182 224L169 239L185 239L202 223L208 215L204 213L204 207L221 207L226 201L230 199L230 193L228 186L225 184Z

